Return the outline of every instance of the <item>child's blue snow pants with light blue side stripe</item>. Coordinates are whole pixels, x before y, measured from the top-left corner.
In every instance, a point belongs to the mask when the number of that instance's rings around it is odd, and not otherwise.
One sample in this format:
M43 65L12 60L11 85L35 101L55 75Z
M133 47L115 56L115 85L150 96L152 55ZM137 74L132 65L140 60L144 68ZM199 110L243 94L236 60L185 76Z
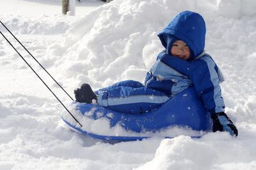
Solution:
M97 102L114 111L138 114L164 104L170 98L161 91L145 88L138 81L121 81L95 91Z

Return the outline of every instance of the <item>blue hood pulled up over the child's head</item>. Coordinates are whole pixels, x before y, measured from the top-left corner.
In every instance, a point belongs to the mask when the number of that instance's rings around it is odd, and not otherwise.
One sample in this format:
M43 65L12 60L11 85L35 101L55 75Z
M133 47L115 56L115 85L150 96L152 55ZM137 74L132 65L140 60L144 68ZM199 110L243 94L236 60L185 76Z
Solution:
M184 11L179 13L157 36L168 54L170 54L173 42L176 40L186 42L191 50L189 60L192 60L204 52L205 33L203 17L195 12Z

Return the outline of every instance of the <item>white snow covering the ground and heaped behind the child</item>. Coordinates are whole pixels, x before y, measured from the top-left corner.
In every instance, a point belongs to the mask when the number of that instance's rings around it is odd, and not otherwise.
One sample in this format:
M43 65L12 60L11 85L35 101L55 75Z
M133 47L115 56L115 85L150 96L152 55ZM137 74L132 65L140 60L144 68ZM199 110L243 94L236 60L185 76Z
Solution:
M0 20L72 95L83 82L97 89L143 81L162 50L157 33L182 10L199 12L207 24L205 50L225 76L226 111L239 136L111 144L81 135L63 123L65 110L0 36L0 169L256 169L255 1L81 1L75 16L65 16L60 0L1 0ZM69 105L70 98L0 31ZM92 125L109 130L103 127L105 120Z

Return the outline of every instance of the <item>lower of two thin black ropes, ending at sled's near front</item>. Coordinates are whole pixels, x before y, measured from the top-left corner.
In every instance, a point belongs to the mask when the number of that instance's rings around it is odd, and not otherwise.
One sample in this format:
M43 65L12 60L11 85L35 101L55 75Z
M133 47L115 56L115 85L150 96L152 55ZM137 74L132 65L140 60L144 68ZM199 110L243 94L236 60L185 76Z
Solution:
M12 43L3 35L3 33L0 31L1 35L4 37L4 39L13 47ZM13 47L13 49L17 52L17 54L19 54L20 58L22 58L25 63L29 66L29 68L31 68L31 70L36 74L36 76L40 79L40 81L42 81L44 83L44 85L49 89L49 91L51 91L52 95L54 95L54 97L60 102L60 104L66 109L66 111L72 116L72 118L74 118L74 120L76 120L76 122L82 127L81 123L79 123L79 121L77 121L77 119L73 116L73 114L68 111L67 107L65 107L65 105L60 101L60 99L52 92L51 88L49 88L49 86L47 86L47 84L42 80L42 78L35 72L35 70L29 65L29 63L26 61L26 59L24 59L20 53L17 51L17 49L15 49L15 47Z

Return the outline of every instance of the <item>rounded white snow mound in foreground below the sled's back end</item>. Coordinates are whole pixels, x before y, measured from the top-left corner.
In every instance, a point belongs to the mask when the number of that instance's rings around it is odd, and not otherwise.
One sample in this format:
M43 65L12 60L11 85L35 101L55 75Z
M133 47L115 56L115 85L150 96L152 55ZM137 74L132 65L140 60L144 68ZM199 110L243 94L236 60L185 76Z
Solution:
M202 157L207 155L207 157ZM180 136L176 140L165 139L157 148L155 157L140 169L209 169L216 161L216 150L191 137ZM204 162L204 164L202 164Z

